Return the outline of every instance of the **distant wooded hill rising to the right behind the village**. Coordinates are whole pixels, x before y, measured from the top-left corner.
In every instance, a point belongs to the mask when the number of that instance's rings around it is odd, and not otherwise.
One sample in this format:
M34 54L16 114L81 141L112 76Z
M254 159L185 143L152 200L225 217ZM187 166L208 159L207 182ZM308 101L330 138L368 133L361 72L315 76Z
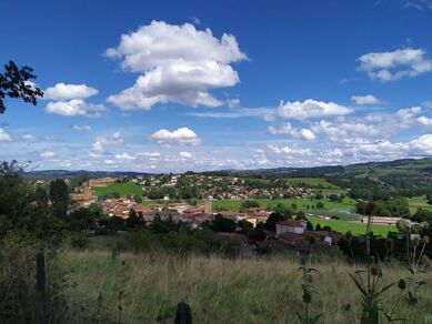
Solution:
M366 162L351 165L275 168L205 172L214 175L257 178L323 178L352 190L356 198L413 196L432 192L432 158Z

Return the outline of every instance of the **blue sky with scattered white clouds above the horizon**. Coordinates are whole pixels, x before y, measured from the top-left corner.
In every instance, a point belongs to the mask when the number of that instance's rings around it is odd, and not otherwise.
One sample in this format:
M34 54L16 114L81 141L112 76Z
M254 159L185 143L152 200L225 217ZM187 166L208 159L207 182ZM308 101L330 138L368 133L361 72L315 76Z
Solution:
M0 160L185 171L432 155L432 1L2 1Z

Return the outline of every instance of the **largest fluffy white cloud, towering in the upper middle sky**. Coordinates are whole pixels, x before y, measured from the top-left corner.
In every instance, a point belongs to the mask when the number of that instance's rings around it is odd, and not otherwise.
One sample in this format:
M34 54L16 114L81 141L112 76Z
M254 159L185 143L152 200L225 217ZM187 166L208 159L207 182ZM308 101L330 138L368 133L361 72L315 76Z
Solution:
M143 73L133 87L108 98L123 110L149 110L167 102L222 105L209 90L235 85L239 75L230 64L247 59L231 34L219 40L210 29L163 21L123 34L120 44L108 49L106 55L122 60L124 70Z

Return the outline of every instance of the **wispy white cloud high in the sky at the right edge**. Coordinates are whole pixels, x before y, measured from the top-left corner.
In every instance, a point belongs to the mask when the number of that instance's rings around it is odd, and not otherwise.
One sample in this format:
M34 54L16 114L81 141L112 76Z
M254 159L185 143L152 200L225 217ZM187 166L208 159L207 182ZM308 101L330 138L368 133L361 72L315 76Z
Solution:
M432 60L422 49L398 49L393 52L368 53L359 58L360 69L382 82L415 77L432 71Z

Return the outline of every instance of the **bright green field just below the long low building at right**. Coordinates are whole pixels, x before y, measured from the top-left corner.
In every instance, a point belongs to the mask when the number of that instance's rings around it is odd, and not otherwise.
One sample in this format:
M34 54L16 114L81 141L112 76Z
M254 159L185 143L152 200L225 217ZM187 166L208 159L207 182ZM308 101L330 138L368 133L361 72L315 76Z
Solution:
M317 226L317 224L320 224L321 226L330 226L333 231L346 233L348 231L351 231L354 235L358 234L364 234L366 231L366 225L362 223L353 223L353 222L346 222L346 221L328 221L328 220L320 220L318 217L308 217L309 221L312 223L313 226ZM398 229L395 226L391 225L373 225L372 226L373 234L381 235L385 237L389 232L398 232Z

